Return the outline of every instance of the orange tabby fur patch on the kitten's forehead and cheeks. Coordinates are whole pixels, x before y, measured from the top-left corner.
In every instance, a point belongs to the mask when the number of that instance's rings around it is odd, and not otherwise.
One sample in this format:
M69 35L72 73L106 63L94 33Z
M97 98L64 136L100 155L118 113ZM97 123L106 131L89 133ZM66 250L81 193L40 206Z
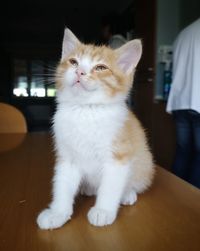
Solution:
M96 80L101 79L101 83L105 88L105 91L109 96L115 96L118 92L127 93L132 84L132 74L127 76L122 73L116 64L116 53L113 53L113 50L106 46L95 46L95 45L85 45L80 44L74 52L72 52L69 57L65 58L59 64L57 68L57 80L56 86L58 89L62 89L62 80L60 76L64 74L66 69L70 67L69 58L85 57L89 55L90 58L94 61L103 59L108 66L107 71L94 72L91 71L89 78Z

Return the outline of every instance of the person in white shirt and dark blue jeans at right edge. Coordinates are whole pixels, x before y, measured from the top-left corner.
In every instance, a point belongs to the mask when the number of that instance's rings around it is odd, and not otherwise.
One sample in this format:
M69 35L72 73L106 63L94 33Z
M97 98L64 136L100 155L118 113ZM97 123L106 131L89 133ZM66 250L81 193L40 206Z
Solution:
M167 102L176 126L172 170L200 188L200 18L175 40L172 78Z

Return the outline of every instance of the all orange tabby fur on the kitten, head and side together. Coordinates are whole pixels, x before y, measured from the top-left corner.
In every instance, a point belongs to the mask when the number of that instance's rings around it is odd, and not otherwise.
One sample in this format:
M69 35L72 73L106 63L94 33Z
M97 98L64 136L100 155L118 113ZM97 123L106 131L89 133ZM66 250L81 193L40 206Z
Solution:
M100 79L108 96L112 97L118 93L128 93L132 85L134 70L128 75L124 74L116 63L117 51L114 52L106 46L97 47L80 43L75 51L61 61L57 69L57 75L62 76L66 69L70 67L69 58L85 56L89 56L94 61L103 59L106 62L108 70L102 72L91 70L89 78L92 80ZM62 81L59 78L57 79L57 88L62 89ZM139 158L138 165L137 160L134 162L135 171L131 183L136 184L137 180L140 182L141 179L145 180L145 182L144 186L139 186L139 188L136 186L136 191L143 191L150 186L155 172L154 168L152 168L152 155L149 151L144 129L132 112L129 112L123 128L113 141L113 149L114 158L123 164L131 161L134 156Z

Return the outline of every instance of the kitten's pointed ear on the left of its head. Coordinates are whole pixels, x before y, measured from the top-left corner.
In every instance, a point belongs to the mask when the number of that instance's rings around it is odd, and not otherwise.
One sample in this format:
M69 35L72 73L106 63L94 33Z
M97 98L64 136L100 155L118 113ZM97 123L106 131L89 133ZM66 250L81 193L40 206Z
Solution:
M76 47L80 44L78 38L70 31L70 29L66 28L64 32L63 44L62 44L62 58L66 58L69 54L76 49Z

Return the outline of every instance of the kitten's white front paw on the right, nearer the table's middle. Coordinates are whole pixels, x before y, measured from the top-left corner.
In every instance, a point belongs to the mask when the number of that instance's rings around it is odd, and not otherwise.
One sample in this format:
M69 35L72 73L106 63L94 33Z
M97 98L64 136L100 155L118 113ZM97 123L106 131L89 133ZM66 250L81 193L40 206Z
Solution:
M116 219L116 212L92 207L88 212L90 224L98 227L110 225Z

